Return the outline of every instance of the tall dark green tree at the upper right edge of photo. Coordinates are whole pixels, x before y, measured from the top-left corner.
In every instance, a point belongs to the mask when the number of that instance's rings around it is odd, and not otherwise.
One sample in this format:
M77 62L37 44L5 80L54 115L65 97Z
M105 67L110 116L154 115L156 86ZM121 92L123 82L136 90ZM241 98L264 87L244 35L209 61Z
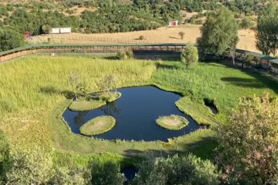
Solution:
M278 48L278 9L272 1L258 14L255 38L259 51L266 56L270 53L275 56Z

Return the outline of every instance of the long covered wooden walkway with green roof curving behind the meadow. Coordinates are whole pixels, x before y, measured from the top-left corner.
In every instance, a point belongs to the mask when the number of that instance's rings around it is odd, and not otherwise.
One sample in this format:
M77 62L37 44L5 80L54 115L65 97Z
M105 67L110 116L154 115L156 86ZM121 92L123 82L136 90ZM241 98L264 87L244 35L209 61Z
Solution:
M0 63L20 56L26 56L34 53L115 53L123 49L132 49L134 52L180 52L186 47L186 44L56 44L56 45L34 45L3 51L0 53ZM250 62L253 66L258 66L275 74L278 74L278 60L270 56L264 56L259 53L236 49L235 59L244 63L246 56L252 56Z

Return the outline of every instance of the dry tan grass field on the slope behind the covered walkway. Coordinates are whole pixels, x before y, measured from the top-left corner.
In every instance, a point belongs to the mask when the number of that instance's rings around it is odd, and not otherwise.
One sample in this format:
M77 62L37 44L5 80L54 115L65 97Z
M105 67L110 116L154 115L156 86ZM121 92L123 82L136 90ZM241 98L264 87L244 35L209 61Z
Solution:
M181 40L178 32L185 32L185 37ZM139 36L144 36L146 40L138 40ZM154 30L139 32L125 32L115 34L60 34L55 35L52 42L56 43L103 43L103 42L148 42L148 43L174 43L174 42L196 42L200 36L200 25L182 25L180 27L160 27ZM238 32L240 42L239 49L255 51L260 53L255 47L255 32L251 29L242 29ZM32 42L47 42L51 36L34 36ZM102 39L102 40L100 40Z

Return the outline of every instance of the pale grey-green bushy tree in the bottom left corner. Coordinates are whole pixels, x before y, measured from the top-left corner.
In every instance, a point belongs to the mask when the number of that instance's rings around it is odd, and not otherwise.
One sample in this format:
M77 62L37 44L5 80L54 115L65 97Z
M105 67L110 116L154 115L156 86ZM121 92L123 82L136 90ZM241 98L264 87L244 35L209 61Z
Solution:
M47 184L52 174L51 153L16 147L10 151L5 184Z

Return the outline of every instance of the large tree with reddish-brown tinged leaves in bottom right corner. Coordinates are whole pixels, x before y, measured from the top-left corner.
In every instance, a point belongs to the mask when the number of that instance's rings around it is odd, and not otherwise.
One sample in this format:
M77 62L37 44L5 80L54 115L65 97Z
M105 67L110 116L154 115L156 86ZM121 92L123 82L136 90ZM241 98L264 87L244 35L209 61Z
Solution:
M278 180L278 98L242 97L229 124L217 132L218 166L224 180L272 184Z

